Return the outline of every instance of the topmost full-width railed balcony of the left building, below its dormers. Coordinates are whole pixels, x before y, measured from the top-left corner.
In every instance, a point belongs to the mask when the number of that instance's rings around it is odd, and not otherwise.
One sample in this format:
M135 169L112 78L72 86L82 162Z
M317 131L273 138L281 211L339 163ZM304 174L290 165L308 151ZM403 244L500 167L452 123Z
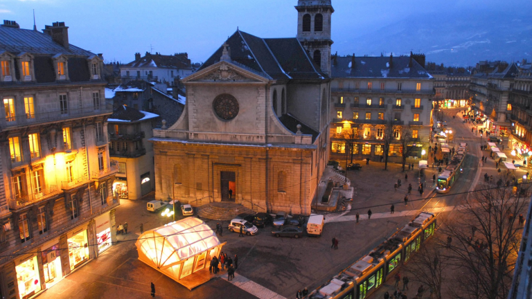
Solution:
M39 109L39 107L35 107ZM30 125L42 125L43 123L55 123L60 120L73 118L84 118L87 116L96 116L100 114L112 114L113 105L105 104L98 107L89 106L76 109L51 109L38 114L17 114L8 118L0 118L0 127L22 127Z

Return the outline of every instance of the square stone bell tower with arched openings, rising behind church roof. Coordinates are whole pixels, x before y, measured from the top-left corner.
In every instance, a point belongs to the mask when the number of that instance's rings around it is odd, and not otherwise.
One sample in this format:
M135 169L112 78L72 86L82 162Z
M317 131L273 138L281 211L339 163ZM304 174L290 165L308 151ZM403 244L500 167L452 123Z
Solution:
M330 75L330 17L335 12L331 0L297 1L297 39L321 71Z

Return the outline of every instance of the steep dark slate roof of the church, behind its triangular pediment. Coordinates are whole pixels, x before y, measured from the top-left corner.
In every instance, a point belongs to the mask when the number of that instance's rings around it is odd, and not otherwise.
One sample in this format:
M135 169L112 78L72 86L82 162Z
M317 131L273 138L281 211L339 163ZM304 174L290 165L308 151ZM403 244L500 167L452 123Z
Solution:
M226 41L231 62L274 80L324 79L301 43L296 38L263 39L236 30ZM223 46L209 57L198 71L220 61Z

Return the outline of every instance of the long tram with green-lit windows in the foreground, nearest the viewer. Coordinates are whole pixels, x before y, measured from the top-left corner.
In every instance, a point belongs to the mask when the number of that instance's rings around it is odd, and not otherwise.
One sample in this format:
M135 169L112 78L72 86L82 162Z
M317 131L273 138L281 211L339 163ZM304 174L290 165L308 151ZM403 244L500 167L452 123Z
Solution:
M387 241L344 271L311 291L308 299L364 299L386 280L393 279L398 266L405 264L436 230L436 215L421 212Z

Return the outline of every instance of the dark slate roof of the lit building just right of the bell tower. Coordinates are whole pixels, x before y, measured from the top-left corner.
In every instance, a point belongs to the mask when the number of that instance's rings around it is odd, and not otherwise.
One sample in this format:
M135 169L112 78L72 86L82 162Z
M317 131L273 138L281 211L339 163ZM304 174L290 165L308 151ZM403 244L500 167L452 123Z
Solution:
M355 67L351 67L351 56L332 58L330 70L332 78L412 78L430 79L430 75L416 60L409 56L355 57ZM336 61L335 61L336 60ZM409 66L411 61L411 66Z

